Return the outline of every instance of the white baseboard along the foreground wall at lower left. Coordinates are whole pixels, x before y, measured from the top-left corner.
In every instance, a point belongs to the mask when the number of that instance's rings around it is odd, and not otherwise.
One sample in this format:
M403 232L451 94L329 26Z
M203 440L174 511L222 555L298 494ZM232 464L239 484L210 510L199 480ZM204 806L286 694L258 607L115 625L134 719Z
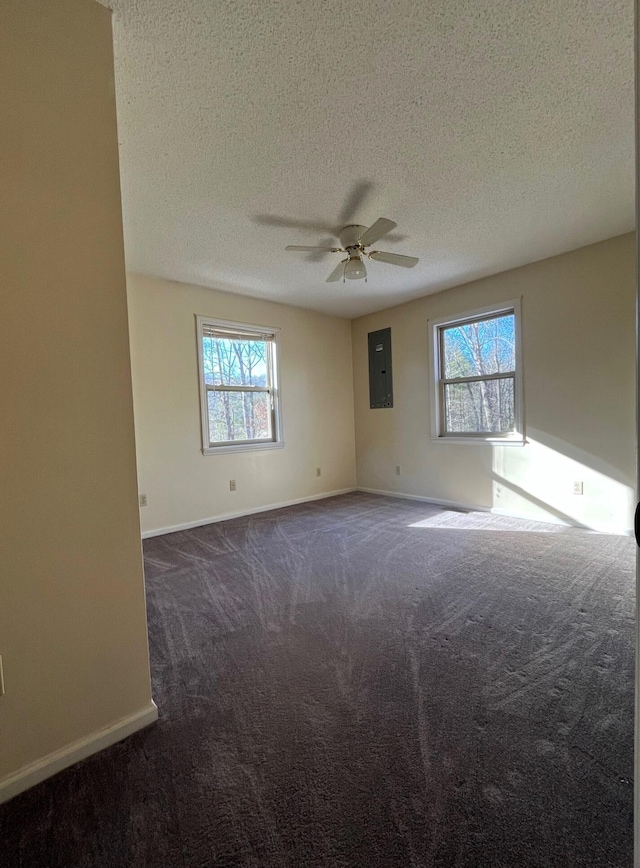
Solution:
M12 799L19 793L24 792L24 790L28 790L30 787L41 783L46 778L50 778L63 769L75 765L80 760L104 750L105 747L111 747L112 744L133 735L139 729L144 729L157 719L158 709L152 700L151 704L147 708L142 709L142 711L137 711L135 714L123 717L105 729L100 729L79 741L75 741L60 750L54 751L54 753L42 757L42 759L23 766L17 772L0 778L0 804Z

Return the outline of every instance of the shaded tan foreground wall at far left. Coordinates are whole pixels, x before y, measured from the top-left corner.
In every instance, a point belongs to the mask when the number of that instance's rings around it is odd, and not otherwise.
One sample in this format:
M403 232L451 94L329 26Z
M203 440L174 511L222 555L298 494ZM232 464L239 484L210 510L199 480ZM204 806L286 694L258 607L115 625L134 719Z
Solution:
M151 704L109 12L0 5L0 799Z

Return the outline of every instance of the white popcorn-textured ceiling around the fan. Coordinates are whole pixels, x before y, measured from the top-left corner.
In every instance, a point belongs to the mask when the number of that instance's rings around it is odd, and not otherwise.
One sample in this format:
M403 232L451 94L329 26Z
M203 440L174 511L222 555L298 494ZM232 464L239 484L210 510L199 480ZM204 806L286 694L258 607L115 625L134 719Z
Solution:
M633 228L633 0L105 5L130 270L352 317Z

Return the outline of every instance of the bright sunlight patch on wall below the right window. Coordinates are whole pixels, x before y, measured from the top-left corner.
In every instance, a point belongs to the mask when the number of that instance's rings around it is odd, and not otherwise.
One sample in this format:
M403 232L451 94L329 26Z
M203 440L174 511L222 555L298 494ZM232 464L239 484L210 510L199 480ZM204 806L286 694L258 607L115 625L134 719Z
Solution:
M604 467L570 444L554 442L554 446L527 438L522 448L494 448L492 512L629 533L633 487L614 478L619 476L614 468ZM573 493L574 482L582 482L583 494Z

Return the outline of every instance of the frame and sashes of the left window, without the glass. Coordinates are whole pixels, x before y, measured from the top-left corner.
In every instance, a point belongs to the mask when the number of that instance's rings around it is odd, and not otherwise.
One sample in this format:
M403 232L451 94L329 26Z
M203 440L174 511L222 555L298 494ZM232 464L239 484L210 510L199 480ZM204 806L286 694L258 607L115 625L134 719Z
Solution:
M267 378L263 386L214 386L205 380L204 374L204 328L205 326L246 335L247 339L259 338L267 342ZM252 323L234 322L214 317L196 315L196 345L198 351L198 382L200 387L200 421L203 455L220 455L229 452L253 452L262 449L280 449L284 446L282 431L282 399L278 378L280 358L280 329ZM212 443L209 434L209 392L267 392L271 398L271 439L221 440Z

